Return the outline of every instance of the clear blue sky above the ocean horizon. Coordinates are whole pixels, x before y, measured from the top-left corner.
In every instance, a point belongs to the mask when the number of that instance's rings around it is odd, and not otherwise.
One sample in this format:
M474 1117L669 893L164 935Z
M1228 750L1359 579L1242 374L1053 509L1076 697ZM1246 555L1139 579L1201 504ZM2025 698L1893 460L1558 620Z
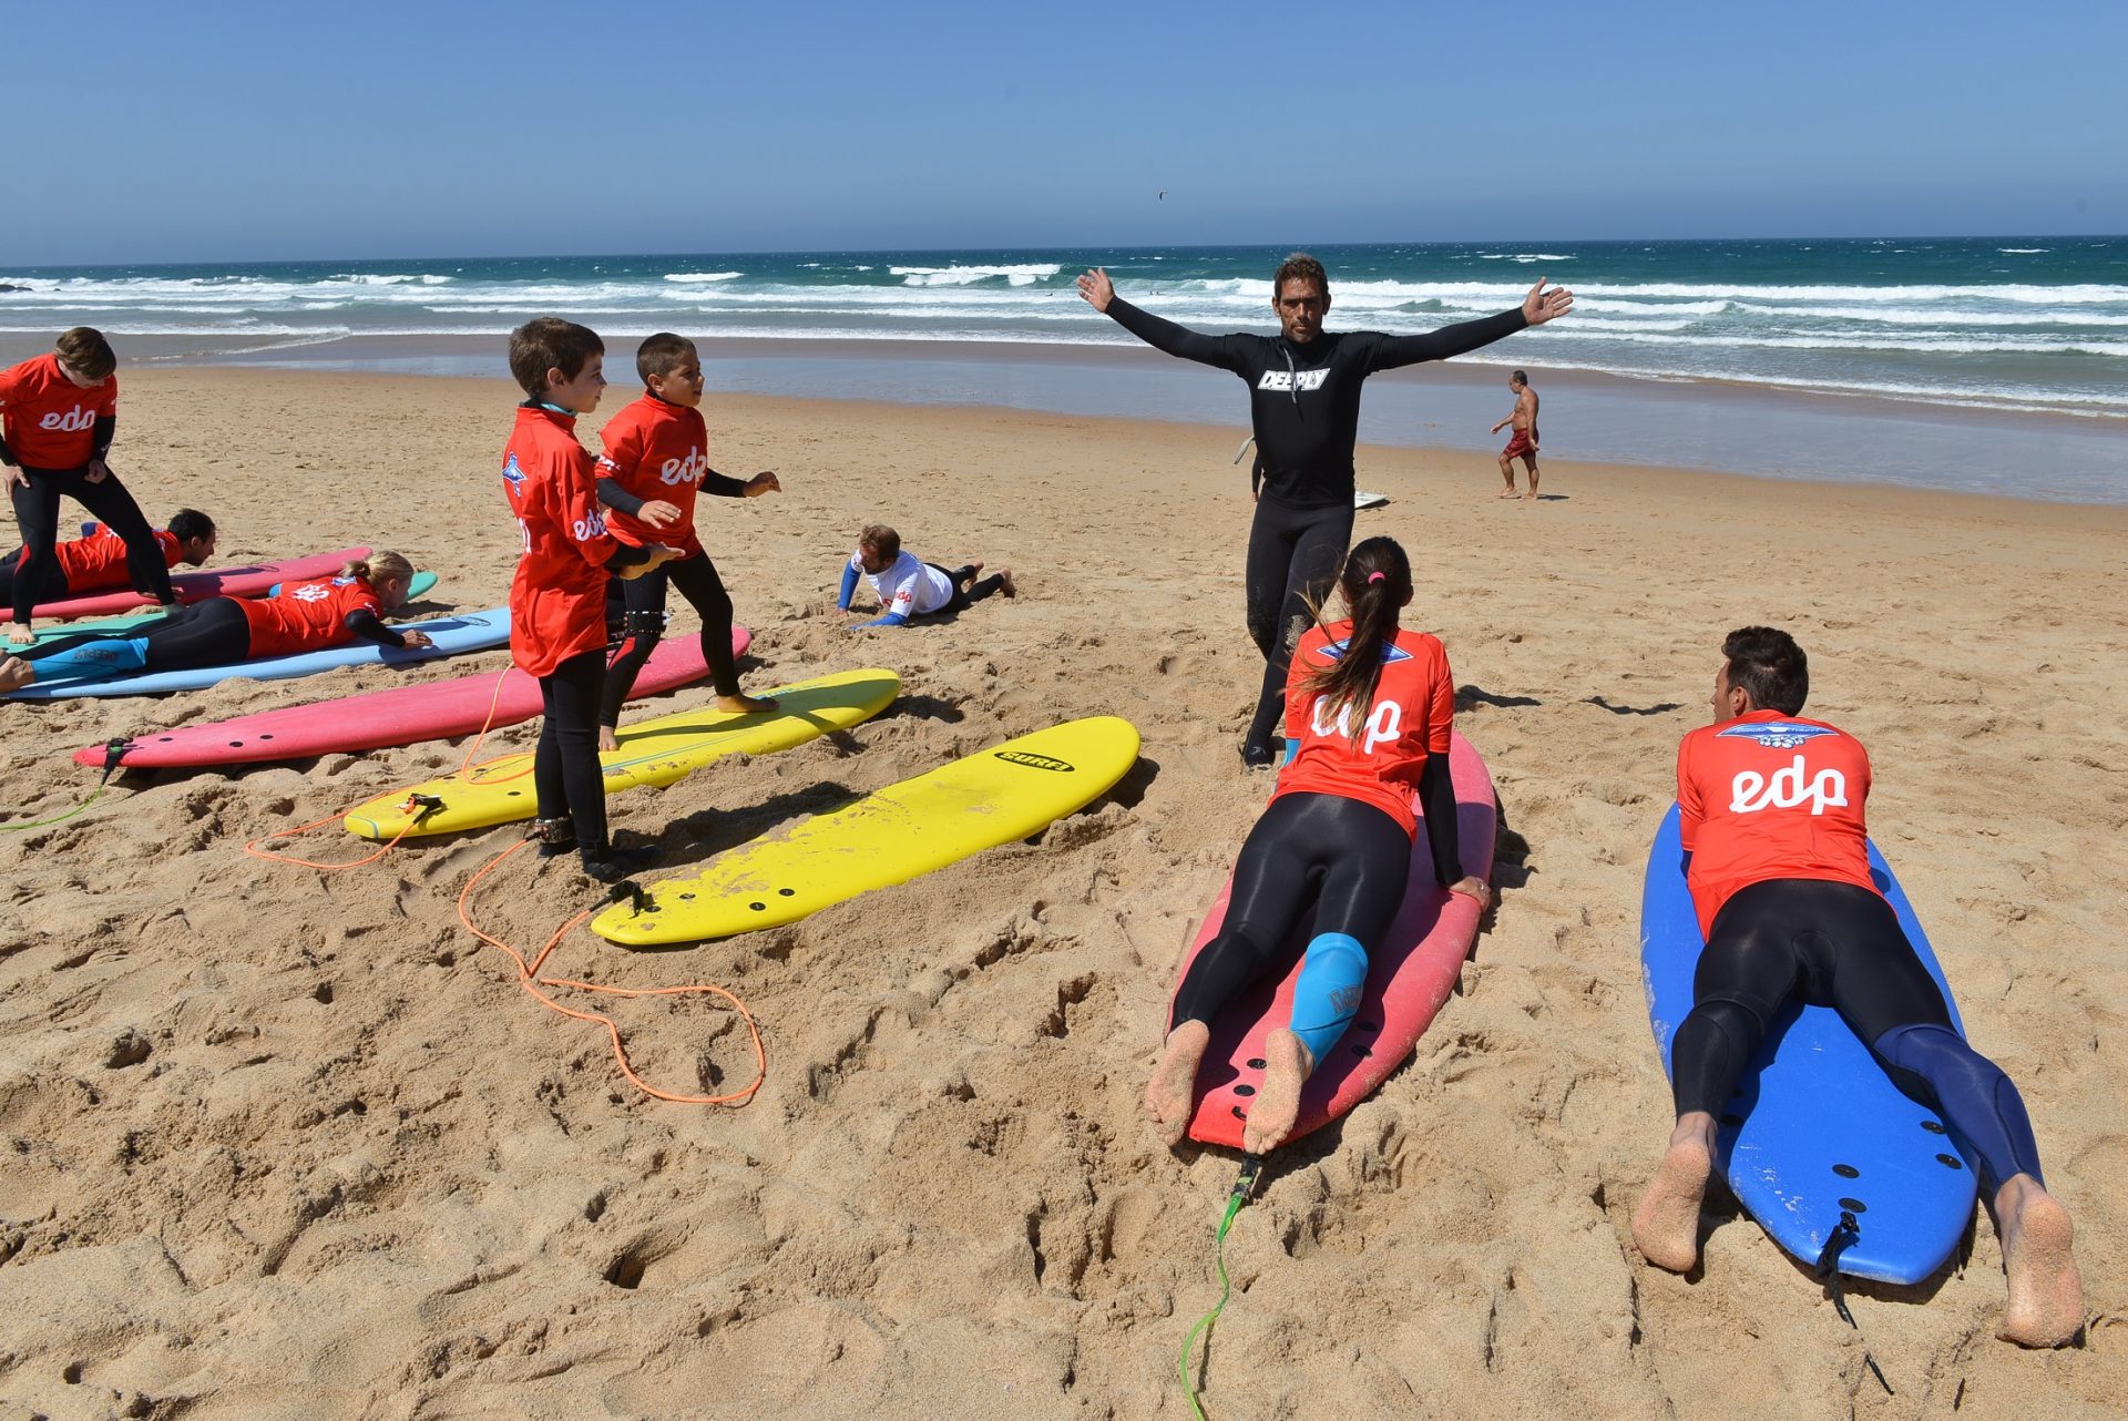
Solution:
M6 266L2128 232L2119 0L0 0L0 53Z

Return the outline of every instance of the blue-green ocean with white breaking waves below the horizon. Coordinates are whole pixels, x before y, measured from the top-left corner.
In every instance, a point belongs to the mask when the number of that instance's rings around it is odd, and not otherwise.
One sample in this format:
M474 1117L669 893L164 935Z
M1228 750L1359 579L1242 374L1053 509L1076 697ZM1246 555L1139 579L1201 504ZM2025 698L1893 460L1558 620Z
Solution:
M1456 243L1315 249L1330 328L1419 332L1545 277L1575 315L1468 357L1919 404L2128 419L2128 238ZM0 268L0 342L66 325L183 357L275 357L349 336L502 336L566 315L626 342L709 338L1132 345L1073 289L1104 266L1149 311L1273 330L1283 249L434 257Z

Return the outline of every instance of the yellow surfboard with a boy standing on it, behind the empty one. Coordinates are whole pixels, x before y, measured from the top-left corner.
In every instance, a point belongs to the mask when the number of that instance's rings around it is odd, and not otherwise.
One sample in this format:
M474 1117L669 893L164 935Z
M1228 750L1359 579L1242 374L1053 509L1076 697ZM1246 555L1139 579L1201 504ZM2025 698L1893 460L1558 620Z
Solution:
M849 730L894 704L900 689L902 679L892 670L843 670L764 691L777 700L775 710L738 715L706 706L621 725L619 749L598 757L606 793L670 785L724 755L787 751L830 730ZM400 830L409 838L485 830L532 813L532 755L523 753L502 755L466 779L432 779L381 793L349 810L345 823L349 834L385 840Z

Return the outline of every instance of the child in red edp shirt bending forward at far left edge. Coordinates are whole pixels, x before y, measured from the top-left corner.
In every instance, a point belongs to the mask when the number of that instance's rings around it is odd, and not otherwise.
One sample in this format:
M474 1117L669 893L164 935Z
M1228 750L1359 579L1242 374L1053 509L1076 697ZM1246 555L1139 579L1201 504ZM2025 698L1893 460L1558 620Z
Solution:
M92 517L109 523L126 542L132 585L164 606L177 604L170 568L155 536L126 485L104 455L117 434L119 360L102 332L77 325L60 336L51 355L0 370L0 464L21 523L21 553L15 559L15 621L6 640L36 640L30 613L53 600L60 540L60 498L72 498Z

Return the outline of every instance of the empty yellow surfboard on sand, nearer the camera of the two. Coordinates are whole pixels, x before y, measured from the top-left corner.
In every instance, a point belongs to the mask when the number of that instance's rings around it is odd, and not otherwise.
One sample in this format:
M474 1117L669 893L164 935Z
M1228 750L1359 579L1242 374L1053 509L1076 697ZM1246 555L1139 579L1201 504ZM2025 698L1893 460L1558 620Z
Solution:
M1130 721L1096 715L1051 725L724 853L694 879L666 879L636 904L594 917L592 932L651 947L794 923L1036 834L1100 798L1136 759Z

